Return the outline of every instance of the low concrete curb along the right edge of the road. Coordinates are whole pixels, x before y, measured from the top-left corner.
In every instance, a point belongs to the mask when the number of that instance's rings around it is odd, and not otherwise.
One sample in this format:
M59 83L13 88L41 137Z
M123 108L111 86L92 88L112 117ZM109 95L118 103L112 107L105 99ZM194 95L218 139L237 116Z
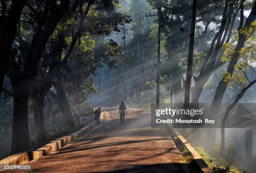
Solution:
M200 154L192 147L190 143L179 133L176 128L172 128L169 124L165 125L165 128L175 145L179 148L179 150L183 151L184 148L190 151L192 157L194 158L194 162L197 164L198 168L201 170L202 173L212 173L212 170L208 167L205 161L202 159Z

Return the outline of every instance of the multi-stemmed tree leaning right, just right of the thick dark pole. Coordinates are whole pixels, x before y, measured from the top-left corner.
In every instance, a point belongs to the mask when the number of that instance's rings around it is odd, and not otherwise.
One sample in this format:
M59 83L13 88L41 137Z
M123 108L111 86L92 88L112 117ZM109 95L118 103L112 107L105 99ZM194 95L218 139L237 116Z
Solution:
M199 103L199 98L205 83L209 80L212 73L224 64L220 61L220 50L224 43L228 43L230 41L239 10L238 0L225 0L225 7L223 9L222 20L218 33L216 33L212 39L207 56L200 68L199 75L194 76L195 85L192 88L192 103Z

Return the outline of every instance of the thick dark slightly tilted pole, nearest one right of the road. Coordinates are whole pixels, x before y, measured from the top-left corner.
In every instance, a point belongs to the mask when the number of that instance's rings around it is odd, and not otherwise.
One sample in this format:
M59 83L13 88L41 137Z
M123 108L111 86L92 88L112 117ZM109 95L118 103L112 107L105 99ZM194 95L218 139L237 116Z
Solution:
M189 52L188 52L188 59L187 59L187 75L186 75L184 105L183 105L184 108L189 107L196 20L197 20L197 0L193 0L191 28L190 28L190 34L189 34L190 38L189 38Z

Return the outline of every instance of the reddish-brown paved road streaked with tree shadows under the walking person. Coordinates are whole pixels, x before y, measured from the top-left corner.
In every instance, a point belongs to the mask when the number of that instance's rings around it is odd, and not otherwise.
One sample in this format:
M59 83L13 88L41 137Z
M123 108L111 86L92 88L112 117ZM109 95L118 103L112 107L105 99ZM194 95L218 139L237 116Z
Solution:
M33 172L187 172L165 130L150 128L150 113L129 108L120 124L118 109L107 111L110 116L90 133L52 155L31 161Z

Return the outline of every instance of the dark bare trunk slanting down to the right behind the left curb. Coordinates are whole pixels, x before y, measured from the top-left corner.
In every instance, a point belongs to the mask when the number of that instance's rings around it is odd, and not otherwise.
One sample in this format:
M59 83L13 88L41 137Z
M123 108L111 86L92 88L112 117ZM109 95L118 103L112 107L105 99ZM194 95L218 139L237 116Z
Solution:
M56 79L56 102L59 105L59 108L61 110L61 113L63 115L64 123L69 125L69 127L74 127L74 120L72 118L72 113L70 110L69 102L67 100L67 97L65 95L65 92L62 87L62 81L61 79Z

